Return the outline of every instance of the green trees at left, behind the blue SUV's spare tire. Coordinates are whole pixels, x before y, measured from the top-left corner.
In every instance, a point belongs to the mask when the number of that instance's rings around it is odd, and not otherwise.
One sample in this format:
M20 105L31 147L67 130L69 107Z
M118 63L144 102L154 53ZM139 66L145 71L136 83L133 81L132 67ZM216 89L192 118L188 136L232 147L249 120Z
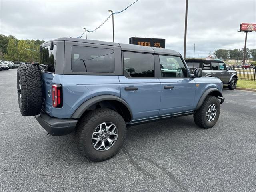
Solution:
M39 61L40 45L43 40L18 40L13 35L0 34L0 60L7 61Z

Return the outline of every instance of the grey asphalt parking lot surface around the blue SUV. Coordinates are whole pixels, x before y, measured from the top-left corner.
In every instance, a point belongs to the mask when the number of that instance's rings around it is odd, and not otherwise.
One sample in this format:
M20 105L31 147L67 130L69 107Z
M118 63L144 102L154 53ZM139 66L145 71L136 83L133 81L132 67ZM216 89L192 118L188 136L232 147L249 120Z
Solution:
M211 129L192 116L134 126L116 156L94 163L74 134L47 137L21 116L16 71L0 71L1 192L256 190L256 92L224 89Z

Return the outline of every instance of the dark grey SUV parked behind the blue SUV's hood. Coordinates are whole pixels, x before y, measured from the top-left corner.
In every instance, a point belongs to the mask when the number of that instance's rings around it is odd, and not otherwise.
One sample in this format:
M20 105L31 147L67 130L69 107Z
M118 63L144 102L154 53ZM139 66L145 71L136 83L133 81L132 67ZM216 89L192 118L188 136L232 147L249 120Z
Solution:
M203 70L205 77L218 77L223 85L228 85L229 89L236 88L238 81L237 72L232 68L227 68L222 60L206 60L206 59L186 59L190 72L193 74L196 68Z

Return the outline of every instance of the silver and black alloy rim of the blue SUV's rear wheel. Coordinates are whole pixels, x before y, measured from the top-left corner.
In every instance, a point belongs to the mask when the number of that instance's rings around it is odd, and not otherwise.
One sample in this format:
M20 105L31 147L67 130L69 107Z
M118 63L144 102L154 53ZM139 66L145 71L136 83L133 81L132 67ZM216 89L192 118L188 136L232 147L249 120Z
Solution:
M114 123L104 122L92 133L92 146L98 151L109 150L116 142L118 130Z

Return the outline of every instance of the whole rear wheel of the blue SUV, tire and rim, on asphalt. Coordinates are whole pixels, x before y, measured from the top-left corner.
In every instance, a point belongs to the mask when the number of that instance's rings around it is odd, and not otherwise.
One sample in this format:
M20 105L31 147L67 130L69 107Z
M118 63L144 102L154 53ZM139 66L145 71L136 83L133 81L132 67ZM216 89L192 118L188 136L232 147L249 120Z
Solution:
M126 136L126 123L111 109L88 112L78 122L76 139L83 156L91 161L104 161L122 147Z

